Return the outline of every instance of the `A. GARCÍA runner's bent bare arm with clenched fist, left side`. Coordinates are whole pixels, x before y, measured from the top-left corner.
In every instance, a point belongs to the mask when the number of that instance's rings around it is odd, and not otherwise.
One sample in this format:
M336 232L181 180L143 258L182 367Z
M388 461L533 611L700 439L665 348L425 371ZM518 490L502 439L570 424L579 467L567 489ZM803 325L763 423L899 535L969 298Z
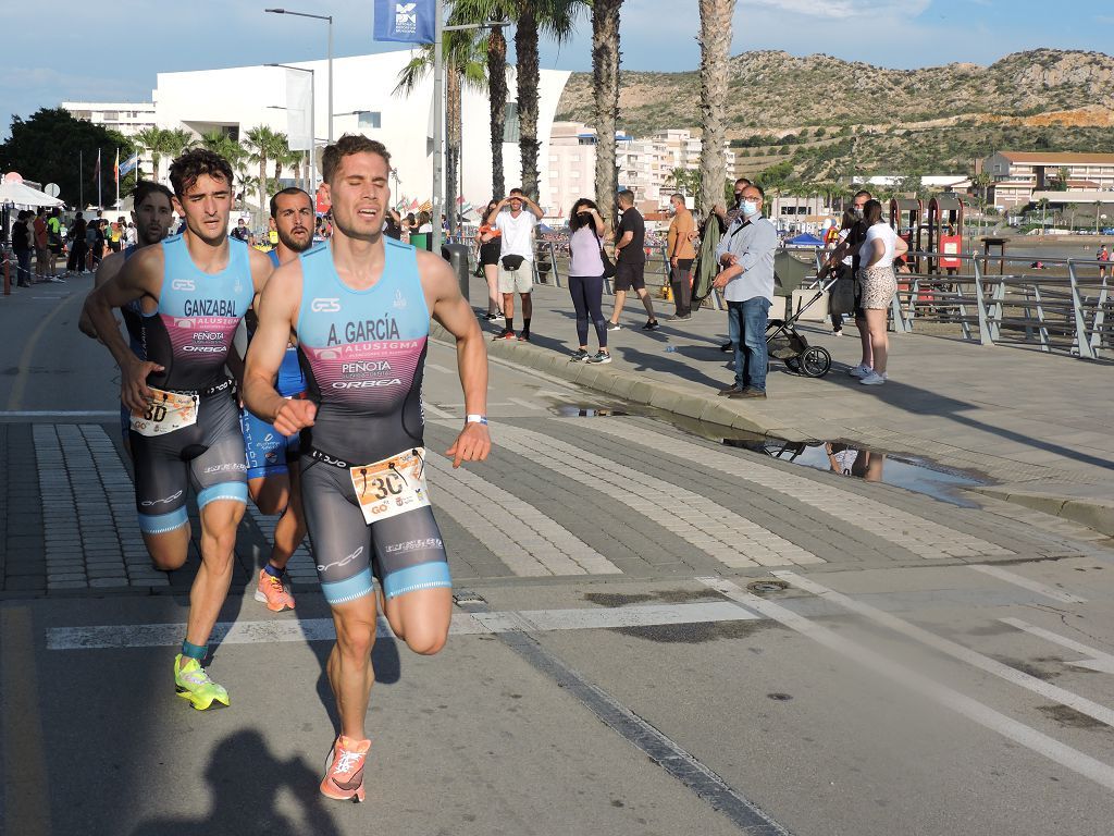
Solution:
M313 426L317 411L312 401L286 400L275 391L275 377L290 343L301 299L302 264L292 261L274 271L260 295L258 324L247 347L244 369L244 405L284 436Z

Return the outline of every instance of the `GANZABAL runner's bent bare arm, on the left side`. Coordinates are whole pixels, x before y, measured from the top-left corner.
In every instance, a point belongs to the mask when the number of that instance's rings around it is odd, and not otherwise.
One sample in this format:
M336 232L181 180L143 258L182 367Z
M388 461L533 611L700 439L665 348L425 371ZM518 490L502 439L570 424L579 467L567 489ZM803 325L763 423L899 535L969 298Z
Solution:
M143 409L150 400L147 376L163 371L158 363L140 360L124 341L120 328L113 315L114 308L121 308L133 299L157 299L162 289L163 247L148 246L136 253L113 279L94 289L85 300L84 310L120 367L120 400L129 409Z

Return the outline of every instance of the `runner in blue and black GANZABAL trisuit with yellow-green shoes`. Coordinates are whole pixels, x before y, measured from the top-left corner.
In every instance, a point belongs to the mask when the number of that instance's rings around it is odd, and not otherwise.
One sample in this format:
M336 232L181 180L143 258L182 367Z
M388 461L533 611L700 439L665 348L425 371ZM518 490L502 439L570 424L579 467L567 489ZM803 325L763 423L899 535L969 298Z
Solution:
M185 231L148 246L89 294L86 311L120 367L120 400L131 409L139 528L155 565L179 568L189 546L186 490L197 493L202 565L189 591L178 694L196 709L228 704L202 662L232 582L236 527L247 499L244 438L235 386L225 372L232 338L272 272L271 260L228 240L232 167L205 149L170 165ZM140 360L120 336L113 308L154 305L144 317Z

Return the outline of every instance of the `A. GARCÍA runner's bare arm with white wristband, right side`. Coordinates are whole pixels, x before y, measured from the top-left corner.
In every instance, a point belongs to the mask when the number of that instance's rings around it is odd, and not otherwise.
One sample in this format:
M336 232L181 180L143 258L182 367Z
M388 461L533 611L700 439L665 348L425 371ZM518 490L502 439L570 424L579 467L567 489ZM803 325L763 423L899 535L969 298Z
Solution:
M465 390L465 415L487 415L487 348L476 314L460 295L452 268L432 253L418 253L426 300L433 319L457 338L457 369ZM452 466L461 461L482 461L491 451L491 437L485 424L465 424L457 440L446 450Z

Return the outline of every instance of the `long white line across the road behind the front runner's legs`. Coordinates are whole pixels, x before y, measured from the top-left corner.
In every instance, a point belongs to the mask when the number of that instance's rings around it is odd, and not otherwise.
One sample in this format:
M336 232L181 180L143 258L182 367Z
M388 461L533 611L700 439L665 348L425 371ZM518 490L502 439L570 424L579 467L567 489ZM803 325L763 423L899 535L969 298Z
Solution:
M659 624L705 624L753 621L759 616L723 601L692 604L620 606L605 610L526 610L521 612L456 613L450 635L499 633L508 630L607 630ZM49 628L48 650L110 648L172 648L182 642L183 624L124 624L110 626ZM377 635L392 638L390 625L379 619ZM333 641L332 619L276 618L271 621L219 622L213 641L221 644Z

